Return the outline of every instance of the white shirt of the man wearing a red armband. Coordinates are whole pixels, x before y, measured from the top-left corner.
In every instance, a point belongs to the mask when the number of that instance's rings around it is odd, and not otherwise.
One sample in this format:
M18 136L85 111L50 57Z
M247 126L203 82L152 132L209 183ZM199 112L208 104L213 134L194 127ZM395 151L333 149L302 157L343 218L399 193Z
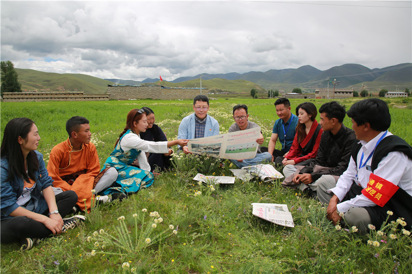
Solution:
M383 134L384 132L381 132L380 134L378 134L378 136L376 136L369 142L360 141L362 148L361 150L359 150L357 155L358 166L356 166L355 161L353 161L351 157L348 169L339 177L339 180L336 183L336 187L328 190L328 192L333 192L333 194L335 194L339 198L339 201L345 198L345 195L348 193L352 182L355 182L362 188L366 188L366 185L369 182L369 175L372 173L371 171L366 170L366 166L371 165L373 157L371 157L366 162L366 165L364 165L364 167L359 168L359 165L361 164L362 152L364 153L363 161L365 161L368 158L369 154L373 152L376 143ZM391 135L392 133L388 132L385 138ZM362 165L363 164L364 163L362 163ZM378 164L378 167L374 170L373 173L399 186L412 196L412 160L409 159L404 153L389 152L385 157L382 158L382 160ZM357 177L356 174L358 175ZM366 198L363 194L361 194L348 201L338 203L337 210L339 212L345 213L351 207L368 206L376 206L376 204Z

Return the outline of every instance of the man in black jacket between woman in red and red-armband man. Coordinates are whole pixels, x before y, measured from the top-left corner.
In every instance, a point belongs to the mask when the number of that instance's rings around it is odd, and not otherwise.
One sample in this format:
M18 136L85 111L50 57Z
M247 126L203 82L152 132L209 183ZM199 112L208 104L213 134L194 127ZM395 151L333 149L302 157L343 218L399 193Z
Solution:
M323 133L316 158L309 165L286 165L282 185L297 188L308 197L317 197L319 183L336 184L339 176L348 168L350 152L355 143L355 133L343 124L346 110L332 101L319 108ZM328 200L329 201L329 200Z

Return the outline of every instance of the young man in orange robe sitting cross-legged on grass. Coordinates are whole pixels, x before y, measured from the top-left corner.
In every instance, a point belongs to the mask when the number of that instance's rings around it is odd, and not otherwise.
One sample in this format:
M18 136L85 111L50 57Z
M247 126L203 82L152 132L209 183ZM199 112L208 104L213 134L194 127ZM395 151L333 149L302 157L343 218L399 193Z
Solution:
M90 213L92 190L95 189L97 194L110 187L118 174L113 167L99 172L99 157L95 145L90 142L92 133L86 118L70 118L66 122L66 131L69 134L67 140L56 145L50 152L48 174L54 180L55 193L75 191L79 197L77 207L82 211L87 208ZM98 197L98 200L105 202L111 198Z

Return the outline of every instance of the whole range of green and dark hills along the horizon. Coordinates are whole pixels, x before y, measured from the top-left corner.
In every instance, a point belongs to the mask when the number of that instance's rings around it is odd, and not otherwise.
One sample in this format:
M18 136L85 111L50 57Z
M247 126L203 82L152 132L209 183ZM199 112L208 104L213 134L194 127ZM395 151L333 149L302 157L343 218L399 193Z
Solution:
M339 81L336 88L360 90L364 84L369 91L380 89L395 90L396 85L412 88L412 63L402 63L384 68L369 69L360 64L344 64L328 70L305 65L297 69L268 70L266 72L251 71L243 74L236 72L227 74L199 74L184 76L173 81L159 81L158 78L146 78L143 81L123 79L100 79L83 74L46 73L30 69L16 69L23 90L36 91L83 91L85 94L107 92L107 85L163 85L167 87L199 88L202 75L202 87L211 92L247 93L252 88L259 92L269 89L291 91L301 88L305 92L313 92L317 88L333 88L333 79Z

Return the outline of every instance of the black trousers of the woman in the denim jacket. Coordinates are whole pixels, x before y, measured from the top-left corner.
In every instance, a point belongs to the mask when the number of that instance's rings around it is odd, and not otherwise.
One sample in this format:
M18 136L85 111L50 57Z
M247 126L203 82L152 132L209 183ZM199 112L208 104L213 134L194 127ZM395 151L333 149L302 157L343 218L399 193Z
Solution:
M77 194L72 190L55 196L57 209L64 218L77 202ZM48 216L49 210L43 215ZM12 217L0 222L1 243L12 243L23 238L46 238L52 234L45 225L26 216Z

